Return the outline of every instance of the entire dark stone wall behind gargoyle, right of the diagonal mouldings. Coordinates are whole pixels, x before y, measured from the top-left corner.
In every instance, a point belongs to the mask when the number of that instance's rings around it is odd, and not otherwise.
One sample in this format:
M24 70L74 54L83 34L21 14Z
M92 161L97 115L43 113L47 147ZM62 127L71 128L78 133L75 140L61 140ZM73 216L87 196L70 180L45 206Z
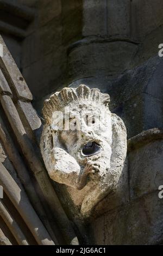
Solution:
M26 2L35 8L26 35L18 39L4 33L4 40L33 93L37 111L41 114L49 94L84 83L110 94L111 112L127 127L123 190L99 203L83 236L92 237L95 244L161 244L162 129L158 127L163 125L163 92L158 45L163 42L163 2ZM78 225L64 186L54 186Z

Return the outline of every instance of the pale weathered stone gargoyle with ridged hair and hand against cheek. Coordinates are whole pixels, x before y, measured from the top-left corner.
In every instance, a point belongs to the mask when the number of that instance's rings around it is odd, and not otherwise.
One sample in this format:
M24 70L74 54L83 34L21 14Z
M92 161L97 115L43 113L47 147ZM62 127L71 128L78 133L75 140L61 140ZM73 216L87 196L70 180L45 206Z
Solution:
M52 180L85 191L83 216L116 190L127 153L126 127L109 110L110 97L85 85L45 101L41 153ZM81 192L82 194L82 192Z

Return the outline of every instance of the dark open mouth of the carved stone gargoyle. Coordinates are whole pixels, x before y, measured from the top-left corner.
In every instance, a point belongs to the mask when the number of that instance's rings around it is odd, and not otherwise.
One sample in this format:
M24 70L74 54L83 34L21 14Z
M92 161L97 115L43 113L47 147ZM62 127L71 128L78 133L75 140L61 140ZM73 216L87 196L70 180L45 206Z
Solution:
M98 145L96 142L89 142L86 145L84 145L82 149L82 156L92 156L98 154L100 151L100 145Z

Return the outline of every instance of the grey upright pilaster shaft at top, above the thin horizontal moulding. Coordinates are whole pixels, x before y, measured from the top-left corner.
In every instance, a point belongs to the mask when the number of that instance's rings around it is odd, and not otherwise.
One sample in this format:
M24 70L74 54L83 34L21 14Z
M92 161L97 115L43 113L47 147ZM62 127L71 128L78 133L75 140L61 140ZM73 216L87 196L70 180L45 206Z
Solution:
M83 21L84 36L129 36L130 1L85 0L83 4Z

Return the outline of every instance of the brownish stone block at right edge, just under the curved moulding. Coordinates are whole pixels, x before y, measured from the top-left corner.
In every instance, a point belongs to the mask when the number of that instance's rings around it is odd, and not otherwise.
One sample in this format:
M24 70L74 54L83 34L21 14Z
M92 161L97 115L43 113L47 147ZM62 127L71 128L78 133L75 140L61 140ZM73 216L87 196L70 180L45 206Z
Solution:
M158 190L163 184L162 140L151 142L129 153L131 199Z

